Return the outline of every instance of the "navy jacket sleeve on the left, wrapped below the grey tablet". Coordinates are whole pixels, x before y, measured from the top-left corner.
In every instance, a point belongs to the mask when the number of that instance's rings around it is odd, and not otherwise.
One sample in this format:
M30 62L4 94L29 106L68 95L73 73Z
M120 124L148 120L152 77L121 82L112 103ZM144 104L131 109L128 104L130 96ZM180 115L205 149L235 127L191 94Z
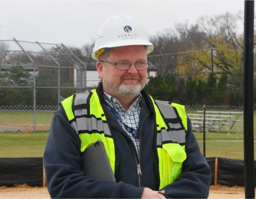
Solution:
M61 109L53 117L43 155L51 198L140 198L143 188L94 180L81 171L80 138Z

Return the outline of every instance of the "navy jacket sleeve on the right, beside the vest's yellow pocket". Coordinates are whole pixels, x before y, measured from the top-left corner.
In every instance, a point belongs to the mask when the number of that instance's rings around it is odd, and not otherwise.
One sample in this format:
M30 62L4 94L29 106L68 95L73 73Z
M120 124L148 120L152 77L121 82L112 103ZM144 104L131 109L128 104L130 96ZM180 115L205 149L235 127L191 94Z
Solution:
M195 135L192 133L191 122L187 120L187 140L185 151L187 159L182 165L181 176L175 182L167 185L167 198L208 198L211 185L211 168L206 158L200 152Z

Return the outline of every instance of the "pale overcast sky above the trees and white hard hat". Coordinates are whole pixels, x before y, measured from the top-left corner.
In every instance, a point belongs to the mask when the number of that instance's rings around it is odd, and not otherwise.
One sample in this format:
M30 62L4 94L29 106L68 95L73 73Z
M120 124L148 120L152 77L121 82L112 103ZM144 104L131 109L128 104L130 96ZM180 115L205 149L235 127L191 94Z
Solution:
M109 17L132 15L149 36L203 15L244 11L244 1L1 1L0 39L82 47Z

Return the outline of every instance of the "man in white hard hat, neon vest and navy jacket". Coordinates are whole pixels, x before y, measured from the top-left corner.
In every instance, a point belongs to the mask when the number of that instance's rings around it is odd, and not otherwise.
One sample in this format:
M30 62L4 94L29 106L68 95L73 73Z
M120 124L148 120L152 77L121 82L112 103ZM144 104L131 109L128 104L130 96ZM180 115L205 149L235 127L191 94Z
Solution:
M43 157L52 198L208 198L211 171L184 106L143 90L152 50L131 16L99 29L92 58L102 84L62 101L53 117ZM81 152L97 140L116 182L83 175Z

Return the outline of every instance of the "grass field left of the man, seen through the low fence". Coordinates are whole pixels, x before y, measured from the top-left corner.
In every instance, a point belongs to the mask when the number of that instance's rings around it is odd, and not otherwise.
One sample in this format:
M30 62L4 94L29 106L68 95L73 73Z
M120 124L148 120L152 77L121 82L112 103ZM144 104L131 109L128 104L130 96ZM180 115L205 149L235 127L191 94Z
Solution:
M54 112L0 112L0 128L26 132L0 132L0 157L42 157Z

